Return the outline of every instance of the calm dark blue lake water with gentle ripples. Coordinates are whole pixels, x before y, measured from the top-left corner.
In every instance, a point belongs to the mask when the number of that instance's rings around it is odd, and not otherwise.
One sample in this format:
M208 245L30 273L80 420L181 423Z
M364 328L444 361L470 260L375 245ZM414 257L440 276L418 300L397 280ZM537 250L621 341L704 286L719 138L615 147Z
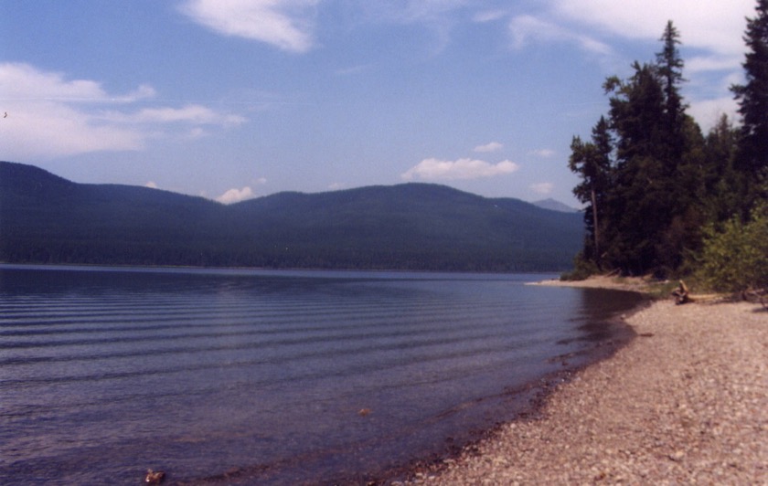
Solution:
M0 265L0 483L363 481L592 359L629 292L551 275Z

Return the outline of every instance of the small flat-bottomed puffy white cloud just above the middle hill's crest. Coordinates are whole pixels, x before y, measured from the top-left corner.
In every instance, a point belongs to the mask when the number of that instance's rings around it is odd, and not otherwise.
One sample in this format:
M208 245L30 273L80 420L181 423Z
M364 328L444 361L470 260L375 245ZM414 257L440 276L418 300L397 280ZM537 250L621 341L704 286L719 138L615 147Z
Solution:
M496 175L511 174L519 166L514 162L505 160L498 164L489 164L482 160L459 159L457 161L443 161L438 159L424 159L414 165L408 171L400 174L406 181L414 179L422 180L456 180L479 179L482 177L494 177Z

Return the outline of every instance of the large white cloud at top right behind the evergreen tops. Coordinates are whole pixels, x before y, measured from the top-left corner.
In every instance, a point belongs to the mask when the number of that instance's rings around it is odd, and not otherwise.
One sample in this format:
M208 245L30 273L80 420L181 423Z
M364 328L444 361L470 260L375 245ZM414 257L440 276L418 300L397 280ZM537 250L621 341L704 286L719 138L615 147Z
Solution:
M755 15L754 7L754 0L548 0L532 15L514 17L509 29L514 48L569 42L611 54L617 61L621 51L612 51L609 44L622 39L655 42L658 50L671 20L680 34L689 79L688 111L707 130L720 114L736 118L728 86L712 86L709 79L712 73L732 79L741 72L745 17ZM651 51L639 60L651 60L653 55Z

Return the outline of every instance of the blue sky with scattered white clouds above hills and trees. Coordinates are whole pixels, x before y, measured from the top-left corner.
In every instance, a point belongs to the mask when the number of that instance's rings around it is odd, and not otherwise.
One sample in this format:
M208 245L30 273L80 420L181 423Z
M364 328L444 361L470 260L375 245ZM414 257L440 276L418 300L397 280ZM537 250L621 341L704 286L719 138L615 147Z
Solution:
M0 0L0 160L222 203L426 182L580 206L571 139L668 20L707 132L754 0Z

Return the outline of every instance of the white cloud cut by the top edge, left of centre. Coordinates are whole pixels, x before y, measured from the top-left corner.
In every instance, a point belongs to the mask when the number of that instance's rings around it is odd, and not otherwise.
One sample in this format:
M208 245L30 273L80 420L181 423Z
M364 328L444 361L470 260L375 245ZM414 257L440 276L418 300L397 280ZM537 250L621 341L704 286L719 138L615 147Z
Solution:
M291 52L314 44L318 0L188 0L181 12L226 36L244 37Z

